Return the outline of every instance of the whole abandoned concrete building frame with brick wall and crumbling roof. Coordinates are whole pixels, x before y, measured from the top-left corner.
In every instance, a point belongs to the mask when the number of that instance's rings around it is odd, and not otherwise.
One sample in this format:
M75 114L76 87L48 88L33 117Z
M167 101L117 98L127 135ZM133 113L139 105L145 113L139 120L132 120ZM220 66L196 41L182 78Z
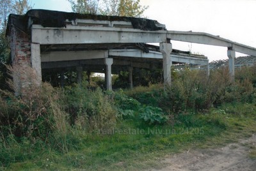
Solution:
M42 69L76 67L79 80L83 70L104 72L108 89L111 73L120 68L129 71L132 87L133 68L163 68L164 83L170 84L172 63L208 64L207 57L173 50L171 40L227 47L232 77L236 51L256 56L256 48L207 33L167 31L156 20L61 11L11 14L6 35L10 37L13 64L34 68L38 82ZM147 43L159 43L159 47ZM22 82L20 77L13 79L17 86Z

